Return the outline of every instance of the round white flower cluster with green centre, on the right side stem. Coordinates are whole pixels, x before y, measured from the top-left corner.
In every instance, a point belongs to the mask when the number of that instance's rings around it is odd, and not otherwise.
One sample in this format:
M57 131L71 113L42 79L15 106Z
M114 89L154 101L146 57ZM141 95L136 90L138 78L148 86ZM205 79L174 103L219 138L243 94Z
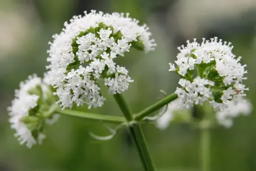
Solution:
M182 98L183 106L191 108L194 104L202 105L210 101L215 111L223 111L229 101L235 105L242 101L245 85L242 84L246 65L241 65L241 57L236 58L232 53L231 43L217 40L203 39L199 44L196 39L187 41L187 46L178 47L175 66L169 63L170 70L181 76L180 85L176 93ZM193 78L195 72L197 77Z

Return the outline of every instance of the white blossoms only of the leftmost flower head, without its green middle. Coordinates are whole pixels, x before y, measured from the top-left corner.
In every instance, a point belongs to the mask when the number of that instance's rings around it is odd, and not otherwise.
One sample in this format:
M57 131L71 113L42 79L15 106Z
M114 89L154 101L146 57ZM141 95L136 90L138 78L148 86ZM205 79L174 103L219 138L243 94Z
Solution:
M29 93L37 86L43 87L41 78L36 75L28 76L25 82L20 83L20 89L15 90L15 99L12 100L12 105L7 108L10 114L11 128L16 131L14 135L18 138L20 144L26 143L28 148L37 143L41 144L42 140L45 139L45 135L42 132L39 132L36 137L33 136L31 129L22 121L24 117L29 116L29 113L33 113L33 110L37 108L41 97ZM43 87L42 90L45 91L46 87ZM56 121L57 119L54 122Z

